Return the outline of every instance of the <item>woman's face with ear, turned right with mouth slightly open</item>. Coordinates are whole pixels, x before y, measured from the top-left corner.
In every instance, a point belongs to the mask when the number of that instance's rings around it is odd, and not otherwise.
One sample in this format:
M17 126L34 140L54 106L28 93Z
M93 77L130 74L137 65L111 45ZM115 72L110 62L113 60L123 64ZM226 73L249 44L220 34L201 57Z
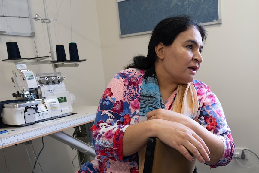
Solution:
M202 62L200 53L203 50L202 37L196 27L181 32L169 46L163 43L157 46L159 66L156 71L160 70L160 74L164 74L163 80L174 84L193 81Z

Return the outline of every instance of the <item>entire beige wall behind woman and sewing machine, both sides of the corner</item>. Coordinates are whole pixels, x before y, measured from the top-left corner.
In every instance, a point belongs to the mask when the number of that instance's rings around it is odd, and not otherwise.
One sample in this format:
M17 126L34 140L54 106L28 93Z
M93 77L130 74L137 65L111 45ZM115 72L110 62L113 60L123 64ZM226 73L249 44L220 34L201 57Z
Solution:
M47 1L47 4L50 1ZM68 43L73 41L78 45L80 59L87 61L77 68L59 68L58 71L66 76L67 91L75 94L78 105L97 105L99 98L110 79L123 69L134 55L146 54L149 35L119 38L119 24L116 0L72 1L72 15L70 15L70 1L51 1L49 18L56 14L56 2L62 2L59 9L59 23L50 25L53 45L64 44L66 55L69 57ZM221 0L222 24L206 26L209 32L204 45L203 63L196 79L208 84L217 94L224 108L228 125L238 148L247 148L259 154L257 122L257 104L259 84L259 1ZM82 8L83 7L83 8ZM43 16L44 9L41 0L31 0L32 14ZM71 23L72 16L72 40ZM5 43L19 40L26 54L21 50L22 57L34 57L35 39L38 51L45 56L49 51L45 24L34 21L35 37L0 36L1 59L7 59ZM54 29L55 28L55 29ZM19 45L20 46L20 45ZM47 47L47 48L46 48ZM47 50L46 50L47 49ZM55 48L54 48L55 51ZM38 73L50 72L51 66L30 66ZM12 99L13 85L11 83L12 63L0 62L1 101ZM95 74L95 75L93 75ZM72 130L68 133L72 133ZM40 156L41 167L44 172L75 172L72 159L75 150L71 150L50 137L44 137L44 153ZM33 140L38 153L41 149L41 139ZM29 147L28 147L29 148ZM12 171L6 171L6 164ZM18 153L18 155L17 155ZM14 172L20 169L30 172L29 159L25 147L18 145L0 150L0 172ZM75 160L74 164L78 165ZM245 166L252 166L257 159L251 153ZM37 168L37 166L36 166ZM254 168L244 168L233 160L225 167L209 169L208 166L198 164L200 173L207 172L258 172L258 165ZM35 172L39 172L36 170Z

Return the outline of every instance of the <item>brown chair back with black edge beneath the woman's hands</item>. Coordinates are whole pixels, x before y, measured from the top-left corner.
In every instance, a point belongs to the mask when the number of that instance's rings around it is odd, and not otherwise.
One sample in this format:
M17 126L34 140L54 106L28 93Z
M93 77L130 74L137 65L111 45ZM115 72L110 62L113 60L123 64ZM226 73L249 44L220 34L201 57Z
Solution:
M194 158L196 161L196 158ZM197 173L195 162L187 160L179 151L158 138L148 138L143 173Z

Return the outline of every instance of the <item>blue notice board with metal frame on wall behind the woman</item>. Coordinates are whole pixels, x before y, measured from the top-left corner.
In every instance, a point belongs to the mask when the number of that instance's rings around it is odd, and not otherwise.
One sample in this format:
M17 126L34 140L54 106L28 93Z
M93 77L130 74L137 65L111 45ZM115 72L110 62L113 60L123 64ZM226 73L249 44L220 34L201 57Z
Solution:
M221 0L117 0L120 38L149 34L166 17L189 15L198 23L222 23Z

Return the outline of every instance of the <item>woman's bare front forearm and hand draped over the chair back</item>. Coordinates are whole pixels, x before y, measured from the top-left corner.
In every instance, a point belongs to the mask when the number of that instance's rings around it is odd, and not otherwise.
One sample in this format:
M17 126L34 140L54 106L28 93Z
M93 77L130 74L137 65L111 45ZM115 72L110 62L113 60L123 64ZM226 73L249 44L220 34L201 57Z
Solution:
M159 138L165 144L178 150L191 162L194 162L194 159L189 151L201 163L210 160L208 147L193 130L181 123L163 119L153 119L130 125L123 137L123 156L130 156L144 147L148 137Z

